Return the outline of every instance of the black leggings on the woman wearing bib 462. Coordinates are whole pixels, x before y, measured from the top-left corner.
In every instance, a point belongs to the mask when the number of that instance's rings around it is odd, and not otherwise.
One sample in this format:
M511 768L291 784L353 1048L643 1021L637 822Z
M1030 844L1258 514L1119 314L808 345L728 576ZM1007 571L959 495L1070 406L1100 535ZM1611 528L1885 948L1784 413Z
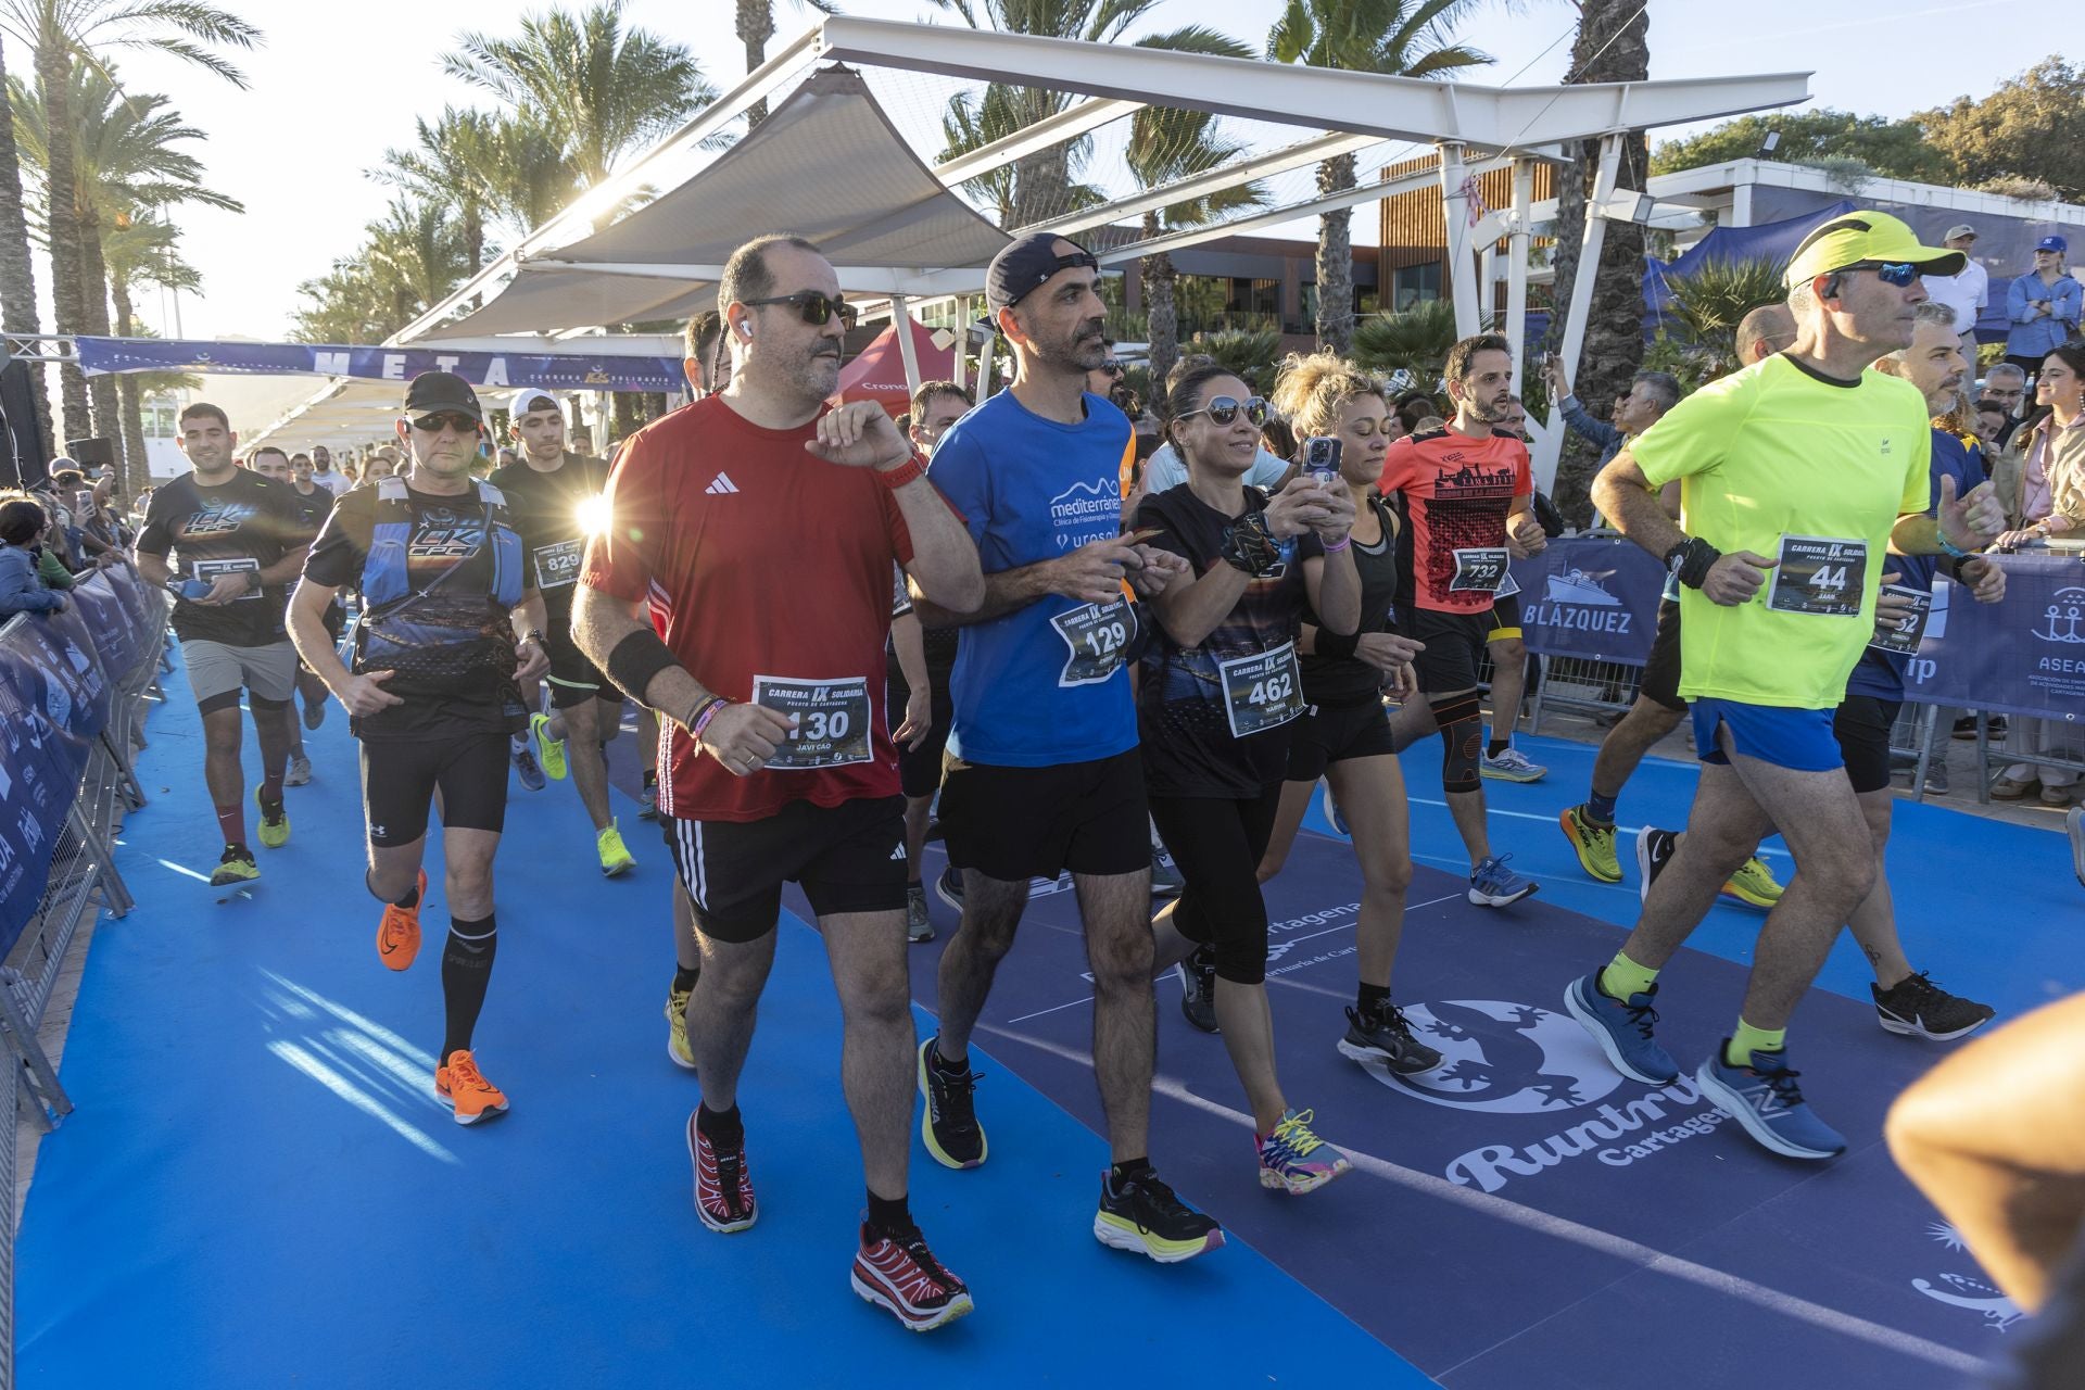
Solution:
M1274 838L1282 784L1257 798L1153 796L1151 819L1186 879L1174 904L1180 936L1216 948L1216 973L1232 984L1268 977L1268 900L1259 894L1259 861Z

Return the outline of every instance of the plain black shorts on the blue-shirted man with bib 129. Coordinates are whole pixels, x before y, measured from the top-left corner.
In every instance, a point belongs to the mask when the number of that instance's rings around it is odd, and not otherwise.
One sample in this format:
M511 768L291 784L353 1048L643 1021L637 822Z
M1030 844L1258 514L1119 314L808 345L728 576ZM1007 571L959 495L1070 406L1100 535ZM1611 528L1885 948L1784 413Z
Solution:
M1145 761L1136 748L1093 763L988 767L949 756L940 831L949 863L1017 884L1151 867Z

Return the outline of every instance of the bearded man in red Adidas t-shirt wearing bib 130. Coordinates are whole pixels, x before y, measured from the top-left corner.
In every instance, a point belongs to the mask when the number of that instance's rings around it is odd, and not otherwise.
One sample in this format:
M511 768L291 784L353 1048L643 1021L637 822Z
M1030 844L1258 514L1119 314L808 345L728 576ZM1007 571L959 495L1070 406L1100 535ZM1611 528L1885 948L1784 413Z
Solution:
M926 1330L967 1313L970 1290L905 1205L915 1040L884 640L892 565L957 613L984 600L984 577L961 517L882 406L826 408L855 317L838 288L801 238L732 252L717 288L732 381L623 442L573 638L676 725L659 819L703 948L688 1007L703 1084L688 1117L696 1215L717 1232L757 1215L738 1073L782 884L796 882L840 992L869 1188L855 1292Z

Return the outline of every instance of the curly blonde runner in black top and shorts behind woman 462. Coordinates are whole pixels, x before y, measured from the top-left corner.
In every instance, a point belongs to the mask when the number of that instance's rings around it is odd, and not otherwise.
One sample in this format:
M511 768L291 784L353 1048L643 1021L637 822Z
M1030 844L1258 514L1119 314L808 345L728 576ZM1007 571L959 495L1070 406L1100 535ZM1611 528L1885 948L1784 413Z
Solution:
M1397 596L1397 515L1376 492L1382 454L1391 446L1387 421L1397 417L1376 381L1328 352L1291 358L1274 383L1274 406L1305 440L1339 440L1339 481L1353 498L1362 621L1357 634L1347 638L1324 627L1314 606L1303 609L1297 650L1303 654L1307 704L1291 725L1289 779L1274 836L1259 859L1259 882L1280 873L1318 777L1324 777L1339 798L1353 834L1353 857L1362 865L1362 907L1353 925L1359 992L1347 1009L1347 1036L1339 1040L1339 1050L1357 1063L1382 1063L1412 1075L1439 1067L1441 1054L1412 1036L1403 1011L1391 1002L1391 965L1412 886L1412 815L1405 777L1391 752L1382 692L1389 688L1403 700L1418 696L1418 673L1412 669L1418 644L1389 629ZM1307 458L1309 444L1303 448ZM1197 988L1197 994L1207 990ZM1207 1013L1207 1027L1213 1027L1213 1009ZM1195 1015L1188 1021L1201 1025Z

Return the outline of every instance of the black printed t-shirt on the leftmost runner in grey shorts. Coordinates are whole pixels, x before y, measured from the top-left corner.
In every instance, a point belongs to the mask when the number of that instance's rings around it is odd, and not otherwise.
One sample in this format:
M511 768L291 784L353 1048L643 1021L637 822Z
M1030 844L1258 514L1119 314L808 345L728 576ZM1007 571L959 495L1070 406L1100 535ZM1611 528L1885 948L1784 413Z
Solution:
M138 550L173 556L177 579L213 579L240 569L267 569L311 540L296 490L259 473L236 469L229 479L204 488L194 473L173 479L152 494ZM244 594L225 604L173 604L173 631L183 642L267 646L284 642L281 584Z

